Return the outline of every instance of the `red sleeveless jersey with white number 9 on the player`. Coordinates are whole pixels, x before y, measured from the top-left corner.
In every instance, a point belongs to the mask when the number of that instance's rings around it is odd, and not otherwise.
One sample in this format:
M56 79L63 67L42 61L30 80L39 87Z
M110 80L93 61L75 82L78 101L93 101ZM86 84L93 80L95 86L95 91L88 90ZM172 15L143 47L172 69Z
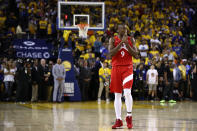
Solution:
M121 40L118 38L118 36L114 37L114 46L116 47ZM133 44L131 42L131 37L128 37L128 42L131 47L133 47ZM120 50L112 57L112 66L117 65L132 65L132 56L129 54L128 49L126 48L126 45L123 44Z

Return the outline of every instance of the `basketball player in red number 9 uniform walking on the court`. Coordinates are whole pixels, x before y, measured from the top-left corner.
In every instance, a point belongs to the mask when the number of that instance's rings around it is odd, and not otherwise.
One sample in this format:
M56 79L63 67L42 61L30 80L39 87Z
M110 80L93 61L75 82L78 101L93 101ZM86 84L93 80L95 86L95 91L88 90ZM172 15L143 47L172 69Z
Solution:
M123 126L121 119L122 91L125 96L125 104L127 108L127 127L131 129L133 127L133 99L131 96L131 88L133 84L132 56L137 57L138 51L134 46L134 39L127 36L125 25L118 25L118 35L110 38L109 54L112 56L110 91L115 94L114 108L116 113L116 122L112 126L112 129Z

